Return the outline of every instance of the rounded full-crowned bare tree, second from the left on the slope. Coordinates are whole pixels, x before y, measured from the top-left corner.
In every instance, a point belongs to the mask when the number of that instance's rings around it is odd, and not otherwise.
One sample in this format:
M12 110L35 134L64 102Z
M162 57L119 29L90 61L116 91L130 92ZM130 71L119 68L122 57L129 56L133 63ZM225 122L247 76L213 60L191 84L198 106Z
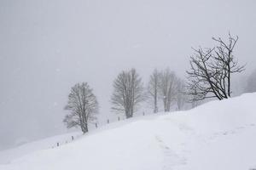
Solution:
M119 73L113 82L112 110L125 112L126 118L130 118L143 100L143 82L137 71L131 69Z

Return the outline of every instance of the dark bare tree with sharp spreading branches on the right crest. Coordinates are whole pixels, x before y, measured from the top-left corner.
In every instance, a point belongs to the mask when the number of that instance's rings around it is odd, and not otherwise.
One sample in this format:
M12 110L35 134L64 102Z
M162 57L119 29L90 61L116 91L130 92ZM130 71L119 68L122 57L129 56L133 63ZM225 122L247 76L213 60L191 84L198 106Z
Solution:
M231 75L244 71L245 66L239 66L233 54L238 37L229 34L228 42L220 37L212 39L218 42L215 48L194 49L190 57L188 88L194 100L230 98Z

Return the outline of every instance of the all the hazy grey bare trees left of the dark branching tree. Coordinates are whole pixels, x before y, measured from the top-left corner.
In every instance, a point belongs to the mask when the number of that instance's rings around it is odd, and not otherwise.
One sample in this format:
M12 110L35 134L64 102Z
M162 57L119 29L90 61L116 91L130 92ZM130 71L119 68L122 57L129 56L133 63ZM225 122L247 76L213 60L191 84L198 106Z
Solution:
M159 111L159 100L163 105L162 111L171 111L175 101L177 108L182 109L183 87L183 81L169 68L164 71L155 69L150 76L148 88L144 88L142 77L138 75L136 69L121 71L113 81L111 110L131 118L139 107L147 102L149 105L154 105L153 110L156 113ZM83 133L87 133L88 123L96 120L98 107L96 96L88 83L77 83L68 95L65 110L70 113L65 116L63 122L66 123L67 128L80 127Z

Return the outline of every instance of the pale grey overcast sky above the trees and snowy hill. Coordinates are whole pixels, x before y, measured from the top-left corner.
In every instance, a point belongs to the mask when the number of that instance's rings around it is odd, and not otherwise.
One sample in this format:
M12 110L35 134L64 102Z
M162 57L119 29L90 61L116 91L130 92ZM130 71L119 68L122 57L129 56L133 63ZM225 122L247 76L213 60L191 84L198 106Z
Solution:
M108 116L112 82L131 67L180 77L191 47L240 37L236 57L256 67L256 1L1 0L0 149L65 133L70 88L89 82ZM245 73L247 73L245 72Z

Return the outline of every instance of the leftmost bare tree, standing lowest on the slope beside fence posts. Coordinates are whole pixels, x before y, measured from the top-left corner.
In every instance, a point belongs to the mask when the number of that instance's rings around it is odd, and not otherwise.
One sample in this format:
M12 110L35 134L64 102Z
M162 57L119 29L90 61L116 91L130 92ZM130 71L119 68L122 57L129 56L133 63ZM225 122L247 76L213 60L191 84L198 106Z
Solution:
M96 96L87 82L77 83L71 88L65 110L71 111L63 120L67 128L80 127L83 133L87 133L88 123L96 120L98 112Z

